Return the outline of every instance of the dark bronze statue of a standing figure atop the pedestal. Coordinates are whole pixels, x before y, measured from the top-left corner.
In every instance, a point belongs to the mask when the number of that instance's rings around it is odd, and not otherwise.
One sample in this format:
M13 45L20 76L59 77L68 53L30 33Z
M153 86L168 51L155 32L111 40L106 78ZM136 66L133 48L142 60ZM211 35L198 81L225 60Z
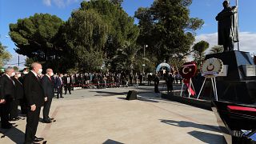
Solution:
M224 51L234 50L234 42L238 42L238 17L237 7L230 7L229 1L222 3L224 9L218 13L218 45L224 47Z

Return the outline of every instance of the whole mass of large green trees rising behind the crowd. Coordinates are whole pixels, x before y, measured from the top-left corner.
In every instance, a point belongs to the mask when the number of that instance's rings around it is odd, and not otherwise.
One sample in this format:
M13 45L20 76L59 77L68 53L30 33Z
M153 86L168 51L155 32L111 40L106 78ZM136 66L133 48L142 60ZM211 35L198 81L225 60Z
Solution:
M158 0L135 12L138 26L122 9L123 0L81 2L68 21L34 14L10 24L10 38L26 66L41 62L54 72L101 70L153 72L163 60L180 65L203 21L190 18L192 0ZM148 45L144 58L143 46ZM201 53L200 53L201 54ZM174 56L178 55L178 58Z

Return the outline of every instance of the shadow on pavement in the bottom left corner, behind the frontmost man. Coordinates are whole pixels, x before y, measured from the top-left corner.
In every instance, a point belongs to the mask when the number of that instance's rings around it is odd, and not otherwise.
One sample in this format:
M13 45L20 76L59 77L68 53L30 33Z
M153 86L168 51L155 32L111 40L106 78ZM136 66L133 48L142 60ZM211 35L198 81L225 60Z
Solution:
M0 129L0 143L2 138L10 138L14 143L22 144L24 142L25 134L22 132L22 130L18 130L16 128L18 125L12 126L10 129Z

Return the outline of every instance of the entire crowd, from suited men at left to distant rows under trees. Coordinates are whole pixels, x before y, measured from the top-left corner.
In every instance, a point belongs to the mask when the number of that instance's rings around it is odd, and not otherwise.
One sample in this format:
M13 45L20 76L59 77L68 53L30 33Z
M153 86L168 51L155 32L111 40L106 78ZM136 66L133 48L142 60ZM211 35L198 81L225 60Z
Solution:
M26 116L25 143L40 142L43 138L35 136L39 115L42 110L42 122L50 123L54 118L49 117L52 99L64 98L64 94L71 94L74 87L82 88L112 88L126 86L140 86L142 81L148 81L148 85L154 82L156 93L159 92L158 84L160 74L126 74L121 73L85 73L85 74L54 74L52 69L46 69L42 74L42 65L38 62L31 64L32 70L24 69L15 71L13 67L7 67L0 77L0 116L1 127L10 129L10 121L17 121L18 105L21 107L21 115ZM166 73L168 92L173 90L173 82L181 79L178 74ZM146 83L143 83L144 85Z

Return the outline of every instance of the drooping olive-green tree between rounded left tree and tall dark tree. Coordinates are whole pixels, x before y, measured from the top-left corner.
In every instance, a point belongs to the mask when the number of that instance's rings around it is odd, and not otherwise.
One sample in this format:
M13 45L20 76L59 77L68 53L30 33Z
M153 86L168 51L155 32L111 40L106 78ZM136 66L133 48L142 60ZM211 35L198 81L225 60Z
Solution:
M95 70L102 65L108 26L95 10L76 10L65 24L66 55L80 70Z

